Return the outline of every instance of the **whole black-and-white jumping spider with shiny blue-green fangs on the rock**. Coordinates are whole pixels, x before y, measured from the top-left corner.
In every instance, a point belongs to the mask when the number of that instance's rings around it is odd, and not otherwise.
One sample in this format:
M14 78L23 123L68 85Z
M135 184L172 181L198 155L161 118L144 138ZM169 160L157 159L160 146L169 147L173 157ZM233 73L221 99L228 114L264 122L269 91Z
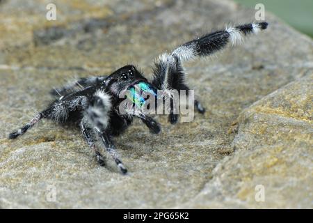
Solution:
M250 33L258 33L262 29L266 29L267 25L266 22L244 24L209 33L184 43L170 54L165 53L159 56L153 68L154 77L151 81L148 81L135 66L127 65L109 76L81 78L73 84L55 89L54 94L58 93L61 98L52 102L47 109L39 112L22 128L10 133L9 138L15 139L24 134L42 118L59 123L74 122L81 128L81 133L95 153L99 164L104 165L105 160L95 146L95 138L98 137L120 171L126 174L127 169L115 151L113 136L121 134L131 124L134 117L140 118L154 133L159 133L161 128L157 121L144 112L120 114L119 105L122 99L119 95L121 91L134 90L135 87L141 86L142 88L144 86L142 91L154 92L155 97L160 97L156 93L158 89L163 91L188 90L188 86L184 83L185 73L182 66L184 61L195 59L196 56L209 56L227 45L241 43L245 36ZM136 100L134 102L137 103ZM139 96L139 103L143 102L145 99ZM204 113L204 108L198 100L194 100L194 105L198 112ZM172 104L170 109L173 109ZM177 114L170 112L170 123L176 123L177 118Z

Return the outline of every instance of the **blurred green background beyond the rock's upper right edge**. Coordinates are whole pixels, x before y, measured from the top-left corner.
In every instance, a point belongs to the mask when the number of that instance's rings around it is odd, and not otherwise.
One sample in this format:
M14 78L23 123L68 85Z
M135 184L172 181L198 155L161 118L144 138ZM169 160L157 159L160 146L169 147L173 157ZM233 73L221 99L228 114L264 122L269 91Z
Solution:
M313 0L235 0L244 6L255 8L263 3L266 11L277 15L298 31L313 37Z

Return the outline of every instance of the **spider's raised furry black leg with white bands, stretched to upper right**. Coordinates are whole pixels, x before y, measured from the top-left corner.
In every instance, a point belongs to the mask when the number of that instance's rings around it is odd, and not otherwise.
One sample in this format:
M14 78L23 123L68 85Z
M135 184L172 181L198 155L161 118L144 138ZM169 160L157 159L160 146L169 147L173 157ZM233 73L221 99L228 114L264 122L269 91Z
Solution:
M227 47L227 45L233 46L243 43L246 36L258 33L266 29L267 26L266 22L259 22L228 27L223 31L208 33L201 38L184 43L170 54L161 54L154 65L152 84L163 92L168 92L171 89L188 91L188 86L184 84L185 72L182 64L184 61L193 60L197 56L209 56ZM170 109L170 123L176 123L178 116L174 114L172 106ZM195 100L195 109L202 114L205 112L198 100Z

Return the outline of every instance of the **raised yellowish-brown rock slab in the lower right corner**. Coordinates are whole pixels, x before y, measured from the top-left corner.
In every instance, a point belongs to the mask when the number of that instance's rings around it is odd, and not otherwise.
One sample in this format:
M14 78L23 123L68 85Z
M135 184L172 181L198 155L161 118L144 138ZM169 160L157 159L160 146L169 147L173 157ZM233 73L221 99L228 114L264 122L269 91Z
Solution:
M312 208L312 83L310 71L242 112L234 155L184 207ZM264 202L255 201L257 185Z

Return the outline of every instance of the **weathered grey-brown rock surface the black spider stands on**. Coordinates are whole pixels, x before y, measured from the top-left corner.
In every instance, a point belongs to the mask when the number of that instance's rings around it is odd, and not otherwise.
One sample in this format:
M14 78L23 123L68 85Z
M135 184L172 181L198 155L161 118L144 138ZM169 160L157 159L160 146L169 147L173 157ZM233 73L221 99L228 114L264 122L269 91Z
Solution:
M129 62L150 74L161 52L255 13L232 1L121 2L57 1L56 22L46 1L0 3L0 207L313 208L313 43L269 13L266 32L186 64L206 114L159 117L159 135L136 121L115 139L129 176L99 167L79 130L42 121L6 138L52 87Z

